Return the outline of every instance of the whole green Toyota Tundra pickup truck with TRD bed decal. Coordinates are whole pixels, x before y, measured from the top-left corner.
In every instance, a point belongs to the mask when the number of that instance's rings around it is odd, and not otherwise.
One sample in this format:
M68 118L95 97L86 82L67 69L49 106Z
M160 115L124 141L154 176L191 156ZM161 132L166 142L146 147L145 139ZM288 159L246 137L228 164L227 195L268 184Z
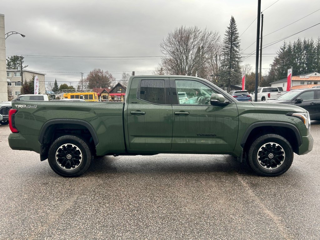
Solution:
M277 176L313 146L303 108L238 102L191 76L132 76L120 103L12 101L9 126L12 149L39 153L65 177L83 174L94 156L159 153L228 154Z

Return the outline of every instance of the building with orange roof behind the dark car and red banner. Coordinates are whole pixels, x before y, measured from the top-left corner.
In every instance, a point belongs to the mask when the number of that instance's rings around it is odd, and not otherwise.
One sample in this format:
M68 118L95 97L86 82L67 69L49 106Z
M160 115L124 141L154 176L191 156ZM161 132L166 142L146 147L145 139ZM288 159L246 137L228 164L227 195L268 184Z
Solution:
M320 85L320 74L317 72L302 74L298 76L292 76L292 89L308 88ZM270 83L272 87L282 87L287 89L287 78ZM299 87L298 87L299 86ZM300 87L301 86L301 87Z

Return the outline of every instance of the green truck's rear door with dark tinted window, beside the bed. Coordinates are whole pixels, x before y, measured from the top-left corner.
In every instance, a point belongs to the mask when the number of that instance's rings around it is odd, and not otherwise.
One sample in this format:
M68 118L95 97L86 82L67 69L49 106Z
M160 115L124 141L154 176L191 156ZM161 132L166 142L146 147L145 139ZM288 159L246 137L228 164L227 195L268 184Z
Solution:
M172 105L169 78L133 78L126 111L130 151L170 151Z

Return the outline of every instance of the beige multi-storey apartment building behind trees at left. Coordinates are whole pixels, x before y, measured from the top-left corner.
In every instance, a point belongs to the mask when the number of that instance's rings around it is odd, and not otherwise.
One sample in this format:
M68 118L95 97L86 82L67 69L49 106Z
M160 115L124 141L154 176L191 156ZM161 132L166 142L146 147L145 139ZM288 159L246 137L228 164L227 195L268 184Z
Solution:
M36 71L30 71L27 69L22 70L22 78L23 82L30 81L32 79L32 75L38 75L39 78L39 91L41 94L45 94L45 73L40 73ZM9 95L14 97L21 94L21 72L17 69L7 69L7 84L11 86L11 92L8 92Z

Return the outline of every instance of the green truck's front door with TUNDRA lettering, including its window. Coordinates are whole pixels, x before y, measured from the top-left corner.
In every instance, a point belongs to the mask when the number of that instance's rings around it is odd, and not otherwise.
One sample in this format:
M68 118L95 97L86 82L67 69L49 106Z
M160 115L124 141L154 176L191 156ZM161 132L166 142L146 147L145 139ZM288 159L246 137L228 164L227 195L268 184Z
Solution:
M219 107L210 104L212 93L221 93L197 79L170 78L173 94L185 92L188 100L172 99L173 151L233 151L238 134L236 103Z

